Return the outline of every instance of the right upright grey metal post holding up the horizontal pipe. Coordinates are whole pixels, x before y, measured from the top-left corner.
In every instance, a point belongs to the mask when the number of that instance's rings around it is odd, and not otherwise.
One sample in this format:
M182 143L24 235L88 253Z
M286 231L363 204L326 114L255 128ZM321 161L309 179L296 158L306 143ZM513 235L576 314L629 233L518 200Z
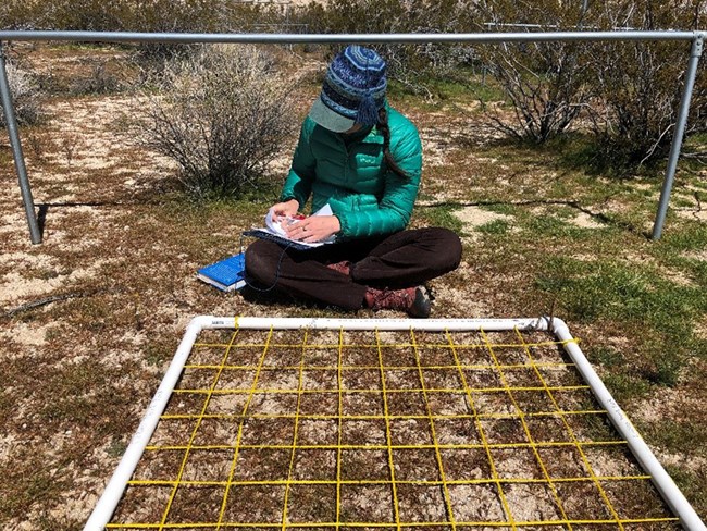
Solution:
M653 225L653 239L660 239L662 225L666 222L666 213L668 212L668 203L670 202L670 192L672 190L672 182L675 178L678 158L680 157L682 138L685 134L685 124L687 123L687 114L690 113L690 101L695 87L695 77L697 76L697 64L699 63L699 57L702 55L704 44L705 34L702 32L696 33L695 38L692 41L692 50L690 51L690 62L687 63L687 72L685 73L685 88L682 91L682 98L680 100L678 122L675 123L675 132L672 137L672 145L670 146L670 157L668 159L666 178L662 182L658 213L656 214L656 222Z

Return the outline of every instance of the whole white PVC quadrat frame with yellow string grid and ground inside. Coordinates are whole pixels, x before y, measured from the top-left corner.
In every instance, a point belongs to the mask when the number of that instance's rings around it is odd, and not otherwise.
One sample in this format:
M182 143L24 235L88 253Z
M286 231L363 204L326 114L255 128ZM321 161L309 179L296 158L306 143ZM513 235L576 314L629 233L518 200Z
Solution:
M679 524L707 529L559 319L202 316L84 529Z

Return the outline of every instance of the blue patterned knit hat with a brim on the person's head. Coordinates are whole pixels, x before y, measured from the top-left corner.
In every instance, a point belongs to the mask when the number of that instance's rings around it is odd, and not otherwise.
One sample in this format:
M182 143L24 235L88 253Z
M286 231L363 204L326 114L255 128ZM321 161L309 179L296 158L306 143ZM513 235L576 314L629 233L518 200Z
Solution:
M385 106L385 61L370 48L352 45L338 53L326 71L320 97L309 118L335 133L355 123L375 125Z

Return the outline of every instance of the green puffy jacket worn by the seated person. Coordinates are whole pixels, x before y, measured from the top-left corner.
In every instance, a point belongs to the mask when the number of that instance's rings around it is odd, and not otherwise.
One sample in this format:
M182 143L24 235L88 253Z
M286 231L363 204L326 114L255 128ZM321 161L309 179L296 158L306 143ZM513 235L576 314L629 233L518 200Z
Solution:
M337 239L405 229L420 187L422 146L415 126L389 108L388 127L390 153L408 178L385 168L375 127L342 135L306 119L281 200L297 199L301 208L311 195L312 211L330 203L342 224Z

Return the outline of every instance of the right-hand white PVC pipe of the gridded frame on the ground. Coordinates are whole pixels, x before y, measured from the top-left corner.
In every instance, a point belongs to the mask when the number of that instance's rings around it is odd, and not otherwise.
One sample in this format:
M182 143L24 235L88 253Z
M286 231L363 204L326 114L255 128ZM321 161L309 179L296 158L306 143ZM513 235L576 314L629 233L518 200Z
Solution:
M670 506L670 508L680 517L680 522L689 531L706 531L704 522L695 513L690 502L680 492L675 482L662 468L662 465L656 459L648 445L643 437L633 428L631 421L625 416L621 407L616 403L609 390L606 388L604 382L594 371L586 357L573 342L572 334L567 324L561 319L553 319L550 322L550 330L555 333L556 337L565 343L565 350L570 356L578 370L584 378L584 381L590 385L594 396L599 404L607 410L611 423L619 431L619 433L627 440L629 448L633 456L641 464L643 469L650 474L653 483L662 495L662 498Z

